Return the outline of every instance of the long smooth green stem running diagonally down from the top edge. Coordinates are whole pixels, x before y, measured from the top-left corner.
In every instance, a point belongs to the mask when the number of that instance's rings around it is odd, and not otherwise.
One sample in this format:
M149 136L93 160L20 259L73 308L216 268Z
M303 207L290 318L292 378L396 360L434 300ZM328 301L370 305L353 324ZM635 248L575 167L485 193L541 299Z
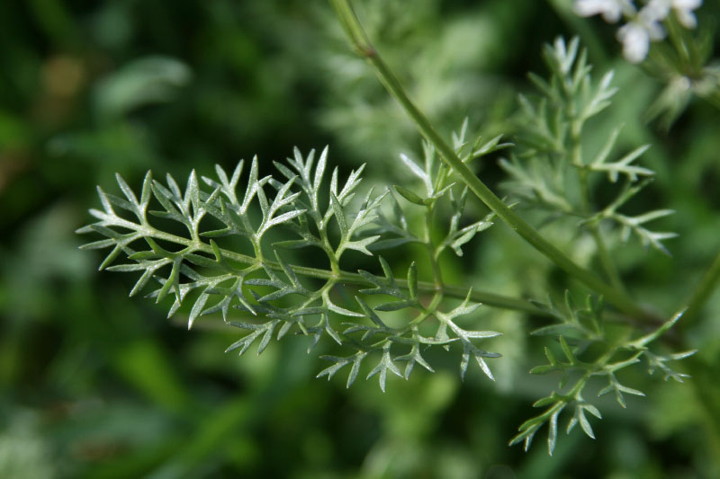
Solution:
M338 13L338 18L358 54L364 57L370 65L374 67L375 73L378 75L380 81L388 92L400 102L402 108L415 122L420 133L436 147L443 161L462 178L463 182L468 186L470 191L473 191L475 196L482 200L488 208L491 208L500 219L505 221L508 226L518 233L518 235L522 236L527 243L536 248L538 252L545 254L548 259L564 271L580 279L589 288L605 297L608 303L616 306L627 315L634 315L641 318L648 317L648 314L645 313L641 307L635 305L633 299L628 297L625 292L608 285L593 272L573 262L567 255L555 247L554 244L545 240L543 236L539 235L532 226L528 225L525 220L500 200L485 183L475 176L470 168L455 154L455 150L440 137L425 115L419 111L418 107L410 100L410 97L405 92L398 78L392 73L390 67L385 64L383 58L381 58L373 48L347 0L330 0L330 3L335 8L336 13Z

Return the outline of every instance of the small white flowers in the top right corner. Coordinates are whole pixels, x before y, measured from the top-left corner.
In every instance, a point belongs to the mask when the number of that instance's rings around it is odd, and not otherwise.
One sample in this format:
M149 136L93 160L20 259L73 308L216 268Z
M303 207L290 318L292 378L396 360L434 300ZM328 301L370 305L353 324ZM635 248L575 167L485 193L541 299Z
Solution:
M672 12L685 28L695 28L698 21L693 11L703 0L644 0L638 10L633 0L576 0L575 13L580 16L601 14L608 23L621 18L626 24L617 31L617 40L623 44L623 55L628 61L640 63L647 56L650 41L665 38L661 22Z

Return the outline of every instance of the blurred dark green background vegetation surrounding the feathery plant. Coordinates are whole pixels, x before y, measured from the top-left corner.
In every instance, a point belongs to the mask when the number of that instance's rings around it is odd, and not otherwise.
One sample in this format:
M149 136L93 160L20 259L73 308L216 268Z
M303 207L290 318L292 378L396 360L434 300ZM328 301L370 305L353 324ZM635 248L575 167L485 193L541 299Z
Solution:
M631 242L618 253L620 268L632 294L664 315L689 296L720 250L716 107L683 99L687 110L668 110L674 123L648 122L666 92L662 75L627 64L614 31L573 16L568 1L367 0L357 8L446 133L467 116L472 131L511 136L516 95L531 90L527 71L545 75L542 43L580 35L595 71L614 68L620 89L593 125L597 141L624 123L619 148L653 144L644 163L658 174L640 208L678 211L664 220L680 233L671 258ZM697 34L712 33L720 3L706 0L698 18ZM705 41L720 51L712 35ZM670 338L700 350L685 365L692 379L638 375L647 398L632 398L627 410L601 401L598 439L563 437L550 458L543 447L507 447L554 380L527 375L541 361L527 338L537 318L481 308L483 329L505 333L495 347L504 357L492 364L497 384L477 370L461 384L455 359L438 356L430 358L436 374L394 378L383 395L374 381L347 391L342 379L311 379L327 366L317 359L322 346L308 356L300 338L259 358L224 355L237 333L219 318L187 333L182 318L165 321L165 307L129 300L132 278L94 271L100 256L79 252L84 238L73 232L97 203L94 185L110 188L116 172L137 187L148 169L184 178L255 154L269 172L293 146L329 144L341 169L368 163L366 184L409 180L388 158L417 157L419 137L349 51L327 4L8 2L0 46L0 477L720 475L718 294ZM494 161L482 174L502 180ZM445 267L448 283L470 278L538 299L558 280L505 226Z

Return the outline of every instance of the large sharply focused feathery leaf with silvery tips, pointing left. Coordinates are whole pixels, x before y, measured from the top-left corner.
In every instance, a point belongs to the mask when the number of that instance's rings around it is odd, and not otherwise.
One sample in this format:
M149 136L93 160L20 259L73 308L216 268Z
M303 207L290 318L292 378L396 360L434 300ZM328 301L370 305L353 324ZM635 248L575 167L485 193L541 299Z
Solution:
M497 140L485 150L491 151L495 144ZM471 291L468 291L459 305L451 307L452 298L443 292L438 264L438 258L447 249L462 255L461 247L491 226L491 216L461 226L467 190L454 192L458 188L449 182L448 172L437 161L432 147L427 146L426 154L424 169L407 156L401 156L401 162L425 185L426 194L419 196L401 186L395 187L398 194L425 210L427 220L420 232L410 228L399 200L391 191L374 194L371 188L358 204L353 201L363 167L350 173L345 182L340 182L338 168L335 168L329 175L326 190L327 147L317 163L314 150L303 157L297 149L287 164L276 162L282 180L270 175L260 177L257 158L253 159L247 178L243 178L242 161L231 175L216 166L216 178L202 177L202 182L209 187L207 191L202 190L194 172L184 191L171 176L167 176L163 185L148 173L138 200L118 175L124 198L98 189L103 210L93 209L91 213L99 221L78 232L94 232L106 237L84 246L85 249L112 248L101 270L140 273L130 296L148 288L148 297L157 302L173 297L168 317L189 297L192 307L188 328L200 316L220 312L227 324L247 330L228 351L237 350L242 355L257 342L259 354L273 337L279 340L287 333L308 336L309 350L312 350L327 336L353 352L344 357L324 356L323 359L333 365L322 370L318 377L333 377L340 368L352 364L347 378L350 386L356 380L361 363L375 352L380 361L367 377L378 375L384 390L388 372L407 379L416 364L432 371L421 351L439 345L462 350L462 376L470 359L474 359L492 378L485 359L497 358L500 354L482 350L476 342L500 333L462 327L463 323L457 318L472 315L480 304L471 301ZM482 152L473 153L480 154ZM244 187L238 186L241 180ZM153 199L162 209L148 209ZM380 211L385 199L392 200L392 217ZM435 244L428 232L440 203L453 208L454 213L446 225L445 238ZM134 218L130 219L130 215ZM153 217L184 226L184 235L161 230L154 225ZM206 217L214 218L222 226L204 231L201 224L204 225L202 221ZM290 239L267 241L271 230L281 228ZM221 248L216 240L226 236L243 238L252 254ZM419 284L415 263L404 275L407 279L400 283L382 256L377 259L383 271L380 276L369 271L341 270L342 258L350 250L373 256L373 251L405 243L427 248L437 288ZM309 247L320 249L328 259L329 269L293 266L284 261L284 250ZM111 265L121 254L130 262ZM303 281L302 277L311 280ZM338 294L338 289L347 288L343 286L347 282L356 285L352 291L355 301L343 301L342 297L347 294ZM376 297L382 299L378 301ZM230 308L257 316L257 322L232 320ZM400 312L401 319L396 312ZM381 315L390 313L398 325L390 326L383 321ZM398 361L405 363L404 373L396 366Z

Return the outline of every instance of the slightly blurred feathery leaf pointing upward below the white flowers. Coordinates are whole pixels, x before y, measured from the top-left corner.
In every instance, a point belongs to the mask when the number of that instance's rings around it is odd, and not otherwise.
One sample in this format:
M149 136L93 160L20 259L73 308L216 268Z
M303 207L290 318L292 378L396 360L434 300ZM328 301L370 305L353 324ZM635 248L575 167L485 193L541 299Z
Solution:
M621 226L623 241L632 233L644 246L670 254L662 241L676 235L651 231L644 224L671 215L671 209L633 217L619 212L653 177L652 170L635 164L649 146L639 146L612 160L619 134L619 129L614 129L596 154L590 155L583 148L588 120L608 108L617 93L611 86L613 73L602 75L595 84L587 52L580 49L578 38L567 45L563 39L555 40L553 47L545 46L544 58L551 78L546 81L530 74L540 96L536 101L520 96L520 151L500 162L509 174L509 192L549 218L580 218L580 224L593 235L599 235L602 223L615 224ZM602 184L605 176L610 183L622 178L623 185L614 200L601 206L593 191L608 189L609 185Z

